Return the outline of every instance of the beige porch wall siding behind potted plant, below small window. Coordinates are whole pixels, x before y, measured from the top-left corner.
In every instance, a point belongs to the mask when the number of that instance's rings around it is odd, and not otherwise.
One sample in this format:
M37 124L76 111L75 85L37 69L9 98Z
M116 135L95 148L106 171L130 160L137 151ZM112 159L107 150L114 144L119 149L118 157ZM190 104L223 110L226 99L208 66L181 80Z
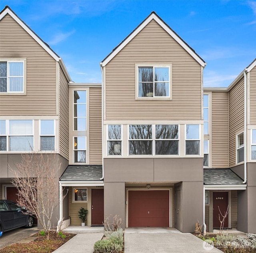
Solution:
M69 200L69 216L71 218L71 224L72 226L81 225L82 219L78 217L78 211L81 207L84 209L87 208L87 203L84 202L78 202L78 203L72 203L72 187L70 187L70 190L68 191L68 200ZM87 225L88 222L88 214L87 214L87 221L85 222L85 225Z

